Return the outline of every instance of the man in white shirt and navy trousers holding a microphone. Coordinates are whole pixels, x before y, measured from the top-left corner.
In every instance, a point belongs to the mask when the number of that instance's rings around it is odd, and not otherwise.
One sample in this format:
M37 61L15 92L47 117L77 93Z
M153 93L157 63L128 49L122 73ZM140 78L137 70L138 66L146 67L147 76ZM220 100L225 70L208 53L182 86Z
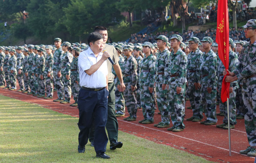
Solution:
M84 153L92 123L95 124L94 149L96 157L110 158L106 152L108 137L105 131L108 115L108 52L102 53L103 37L93 32L88 36L89 48L78 58L81 89L78 96L80 129L78 153ZM95 121L93 120L95 115Z

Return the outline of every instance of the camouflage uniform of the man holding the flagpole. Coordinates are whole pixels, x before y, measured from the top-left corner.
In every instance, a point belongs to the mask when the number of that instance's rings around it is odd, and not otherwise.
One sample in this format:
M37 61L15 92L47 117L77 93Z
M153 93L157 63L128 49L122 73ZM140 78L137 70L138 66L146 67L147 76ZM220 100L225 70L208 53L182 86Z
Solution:
M250 21L250 20L249 20ZM248 22L249 22L248 21ZM256 20L255 20L256 21ZM256 22L255 22L256 24ZM244 123L250 146L256 146L256 41L243 46L239 55L239 65L233 71L242 80L242 95L245 107Z

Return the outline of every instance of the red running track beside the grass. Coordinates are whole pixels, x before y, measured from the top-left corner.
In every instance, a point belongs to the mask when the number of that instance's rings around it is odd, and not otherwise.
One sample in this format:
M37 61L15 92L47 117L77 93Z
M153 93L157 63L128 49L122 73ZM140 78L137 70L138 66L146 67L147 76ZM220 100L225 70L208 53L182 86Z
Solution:
M42 107L74 117L78 117L79 115L77 107L71 107L69 104L53 102L52 99L37 98L21 92L6 89L0 89L0 94L25 102L36 103ZM57 99L56 92L54 93L53 99ZM71 103L73 102L74 100L71 99ZM186 107L187 106L190 106L189 101L186 103ZM186 108L185 114L185 118L191 117L192 110ZM129 113L126 112L125 117L127 116L129 116ZM158 144L169 145L173 148L203 157L209 161L220 163L253 163L255 159L254 157L239 154L239 150L246 149L247 146L249 146L244 127L244 120L237 120L237 125L235 125L234 129L231 129L232 152L231 156L229 156L228 130L216 128L216 125L205 126L201 125L200 122L184 120L184 124L186 126L184 131L167 131L166 128L159 129L154 127L153 124L139 124L138 121L143 119L141 109L137 112L137 121L127 122L123 121L123 118L124 117L118 118L120 131L154 141ZM217 124L222 124L223 117L217 116L217 118ZM155 113L154 119L154 124L156 124L161 121L161 116Z

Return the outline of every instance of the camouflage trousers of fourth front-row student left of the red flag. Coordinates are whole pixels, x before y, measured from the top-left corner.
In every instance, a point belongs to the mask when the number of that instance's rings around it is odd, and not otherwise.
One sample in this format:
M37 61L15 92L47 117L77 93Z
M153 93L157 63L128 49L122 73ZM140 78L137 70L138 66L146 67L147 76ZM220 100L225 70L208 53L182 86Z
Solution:
M162 90L162 83L156 82L156 100L159 111L161 112L161 122L169 125L170 124L170 112L169 112L169 101L168 101L168 90Z

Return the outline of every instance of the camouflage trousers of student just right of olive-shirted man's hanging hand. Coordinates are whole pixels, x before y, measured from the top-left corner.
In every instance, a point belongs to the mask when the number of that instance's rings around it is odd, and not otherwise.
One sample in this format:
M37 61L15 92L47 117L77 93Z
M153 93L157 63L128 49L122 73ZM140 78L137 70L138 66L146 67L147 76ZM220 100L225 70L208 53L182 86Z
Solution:
M137 117L137 92L136 89L134 91L131 90L131 84L125 83L125 91L123 92L125 98L125 104L127 107L127 111L131 117Z

